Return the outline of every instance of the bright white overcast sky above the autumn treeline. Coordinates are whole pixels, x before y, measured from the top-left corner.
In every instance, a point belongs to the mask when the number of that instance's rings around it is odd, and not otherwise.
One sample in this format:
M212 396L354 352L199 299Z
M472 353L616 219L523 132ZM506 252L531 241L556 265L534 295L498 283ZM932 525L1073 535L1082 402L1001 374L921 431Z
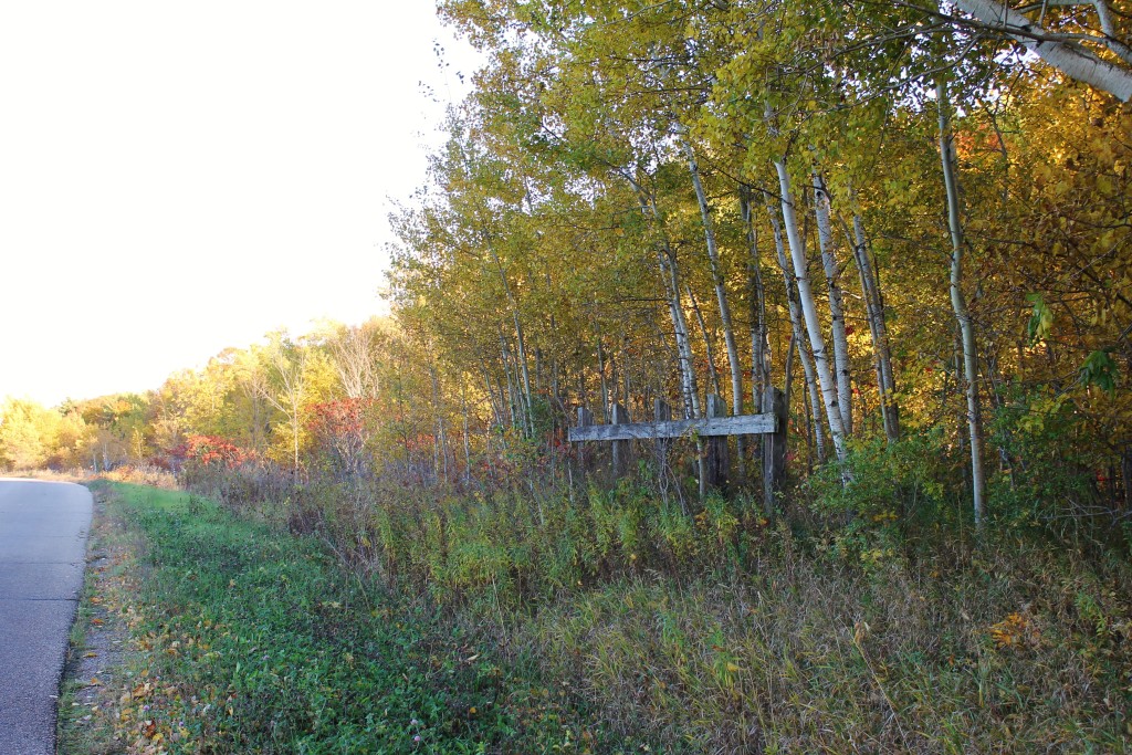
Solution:
M477 62L427 0L0 3L0 397L385 311L388 213Z

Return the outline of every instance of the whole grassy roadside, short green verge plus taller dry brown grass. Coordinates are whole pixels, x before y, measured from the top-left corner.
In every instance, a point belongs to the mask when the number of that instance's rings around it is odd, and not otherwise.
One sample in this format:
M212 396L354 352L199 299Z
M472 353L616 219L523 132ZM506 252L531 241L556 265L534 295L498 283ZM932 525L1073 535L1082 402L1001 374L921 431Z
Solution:
M314 539L108 492L138 537L119 610L136 676L105 713L132 752L1127 748L1127 568L1072 550L1014 539L861 568L778 527L743 568L437 610Z

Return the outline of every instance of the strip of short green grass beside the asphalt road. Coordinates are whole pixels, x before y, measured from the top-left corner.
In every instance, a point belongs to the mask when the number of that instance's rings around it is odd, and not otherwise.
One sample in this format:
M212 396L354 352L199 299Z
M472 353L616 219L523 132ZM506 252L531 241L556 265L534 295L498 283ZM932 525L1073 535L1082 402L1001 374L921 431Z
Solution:
M187 494L113 489L145 542L143 730L171 752L585 752L600 736L557 701L524 718L526 683L494 649L362 585L316 540Z

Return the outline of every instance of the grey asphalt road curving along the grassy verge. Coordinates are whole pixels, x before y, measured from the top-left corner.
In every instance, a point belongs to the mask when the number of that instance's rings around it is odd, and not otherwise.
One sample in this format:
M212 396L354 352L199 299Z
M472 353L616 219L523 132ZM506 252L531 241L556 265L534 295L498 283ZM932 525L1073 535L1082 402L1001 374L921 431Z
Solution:
M91 492L0 478L0 754L52 755Z

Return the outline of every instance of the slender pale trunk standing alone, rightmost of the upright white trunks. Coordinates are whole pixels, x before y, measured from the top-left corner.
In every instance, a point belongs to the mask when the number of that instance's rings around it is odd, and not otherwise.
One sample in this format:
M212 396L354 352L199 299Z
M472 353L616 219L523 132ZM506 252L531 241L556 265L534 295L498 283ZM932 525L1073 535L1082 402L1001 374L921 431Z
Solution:
M976 364L975 326L963 299L963 229L959 221L959 181L952 152L951 103L943 79L935 84L940 106L940 160L943 163L943 182L947 191L947 228L951 230L951 307L959 321L963 342L963 383L967 394L967 427L971 439L971 495L975 507L975 526L983 529L984 490L983 438L979 420L978 367Z

